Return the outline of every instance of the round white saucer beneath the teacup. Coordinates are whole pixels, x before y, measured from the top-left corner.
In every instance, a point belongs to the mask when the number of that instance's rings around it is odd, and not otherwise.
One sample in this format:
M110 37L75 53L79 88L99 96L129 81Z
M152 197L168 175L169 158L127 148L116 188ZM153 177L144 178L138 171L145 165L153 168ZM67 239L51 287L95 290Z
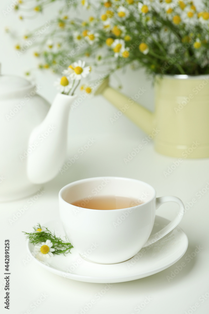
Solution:
M156 216L152 233L162 229L168 222L169 220ZM50 231L55 231L57 236L64 236L60 221L51 221L44 226ZM180 227L176 227L161 240L119 264L88 262L81 258L75 248L72 248L71 253L66 256L54 255L50 258L44 257L42 260L38 255L35 257L31 255L31 257L46 270L65 278L94 283L116 283L147 277L170 267L184 255L187 246L187 236ZM34 245L29 241L27 248L30 254L34 251Z

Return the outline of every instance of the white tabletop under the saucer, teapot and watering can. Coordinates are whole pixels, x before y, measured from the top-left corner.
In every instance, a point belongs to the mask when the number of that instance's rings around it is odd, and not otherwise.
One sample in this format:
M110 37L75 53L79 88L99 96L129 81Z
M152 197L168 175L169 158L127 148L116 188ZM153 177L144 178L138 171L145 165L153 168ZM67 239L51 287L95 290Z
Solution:
M173 266L150 277L112 284L111 289L100 300L97 300L88 313L135 314L137 311L134 308L143 304L146 297L150 298L150 301L141 310L144 314L185 314L188 311L193 313L191 308L195 309L196 302L199 303L196 313L208 313L209 191L199 199L195 194L209 181L209 160L184 160L170 176L165 178L163 171L166 171L175 159L156 153L153 143L149 143L125 165L123 158L141 143L144 136L145 134L139 130L132 137L124 134L123 136L116 134L94 136L96 142L92 147L80 156L68 171L45 184L44 194L12 225L9 219L13 219L13 215L17 214L18 210L27 203L28 198L0 205L2 222L0 247L3 250L4 239L8 238L11 248L10 313L81 313L85 304L95 299L95 294L104 288L105 284L83 283L59 277L46 271L34 261L29 261L24 265L24 260L29 256L21 231L31 230L37 222L44 224L49 220L59 219L58 192L60 188L71 181L92 176L132 177L151 184L156 189L157 196L175 195L185 204L192 198L196 198L197 202L186 211L180 223L180 227L189 238L185 255ZM77 149L87 143L89 137L92 136L88 134L71 136L68 156L76 154ZM172 219L175 211L176 205L167 203L159 209L158 214ZM187 256L194 252L196 246L201 246L201 251L188 262ZM186 260L185 257L187 257ZM169 282L166 276L170 276L176 266L182 262L185 262L186 266ZM3 309L5 296L2 289L3 257L0 263L0 308L1 313L7 313L8 311ZM33 303L39 300L42 293L47 297L36 307ZM201 295L204 295L206 300L202 299Z

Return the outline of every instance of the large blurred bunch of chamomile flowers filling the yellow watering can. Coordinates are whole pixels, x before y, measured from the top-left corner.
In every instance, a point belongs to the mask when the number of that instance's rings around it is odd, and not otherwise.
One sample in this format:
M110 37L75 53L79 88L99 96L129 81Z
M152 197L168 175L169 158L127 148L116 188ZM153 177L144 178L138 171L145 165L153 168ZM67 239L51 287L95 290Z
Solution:
M41 14L56 1L34 0L27 14ZM19 1L20 19L29 17L24 15L24 5L32 2ZM90 58L93 66L105 66L107 74L127 64L144 67L150 74L209 73L208 0L201 3L201 10L188 0L61 2L57 17L36 41L39 68L62 73L76 59ZM25 34L25 40L35 31ZM21 51L23 44L17 43L16 49Z

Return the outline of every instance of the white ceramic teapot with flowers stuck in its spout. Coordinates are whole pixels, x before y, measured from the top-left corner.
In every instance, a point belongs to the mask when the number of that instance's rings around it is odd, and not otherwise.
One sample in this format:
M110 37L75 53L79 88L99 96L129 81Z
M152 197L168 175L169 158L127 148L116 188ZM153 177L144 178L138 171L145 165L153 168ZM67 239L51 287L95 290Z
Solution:
M50 104L24 78L0 75L0 201L35 193L65 161L70 105L57 94Z

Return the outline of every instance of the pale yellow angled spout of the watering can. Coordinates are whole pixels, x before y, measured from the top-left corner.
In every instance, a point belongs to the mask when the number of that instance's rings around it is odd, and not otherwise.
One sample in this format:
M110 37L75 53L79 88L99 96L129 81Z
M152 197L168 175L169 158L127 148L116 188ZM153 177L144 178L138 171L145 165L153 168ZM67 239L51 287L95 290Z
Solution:
M126 97L109 86L109 79L106 78L98 87L94 95L103 95L109 102L119 110L124 108L124 114L132 120L145 133L151 134L154 127L154 114L131 98Z

